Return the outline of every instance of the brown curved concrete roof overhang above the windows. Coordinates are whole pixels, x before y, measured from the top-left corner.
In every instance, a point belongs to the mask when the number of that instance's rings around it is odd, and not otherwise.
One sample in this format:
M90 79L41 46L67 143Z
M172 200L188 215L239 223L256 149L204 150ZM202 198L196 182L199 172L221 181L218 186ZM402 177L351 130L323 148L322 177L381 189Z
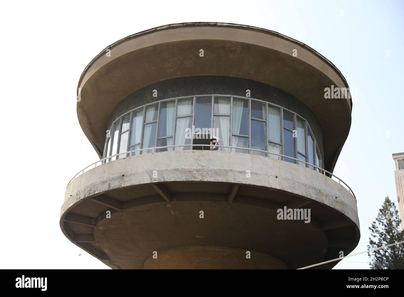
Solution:
M204 57L200 57L200 49ZM294 49L297 57L292 55ZM101 157L107 122L125 97L162 80L206 75L263 82L311 108L323 129L325 169L332 172L349 133L352 101L324 99L324 88L348 88L345 78L309 46L257 27L178 23L115 42L99 53L80 77L80 125ZM251 97L253 94L251 90Z

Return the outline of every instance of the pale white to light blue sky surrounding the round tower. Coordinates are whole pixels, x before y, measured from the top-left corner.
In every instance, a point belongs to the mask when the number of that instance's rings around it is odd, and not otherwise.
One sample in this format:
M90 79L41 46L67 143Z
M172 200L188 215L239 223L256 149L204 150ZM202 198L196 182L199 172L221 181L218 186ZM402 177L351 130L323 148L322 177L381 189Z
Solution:
M351 132L334 173L358 199L362 237L353 253L366 250L368 226L384 197L397 202L391 154L404 151L404 2L352 2L3 2L0 251L5 257L0 267L109 269L59 228L67 182L98 158L77 120L80 74L116 40L195 21L252 25L295 38L328 58L358 89ZM368 269L367 261L366 254L360 255L335 269Z

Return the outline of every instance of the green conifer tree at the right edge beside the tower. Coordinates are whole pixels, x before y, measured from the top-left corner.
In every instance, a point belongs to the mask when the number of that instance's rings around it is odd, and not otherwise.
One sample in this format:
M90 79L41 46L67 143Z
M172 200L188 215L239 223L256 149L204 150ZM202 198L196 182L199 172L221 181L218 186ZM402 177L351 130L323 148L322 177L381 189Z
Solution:
M372 233L368 250L404 240L404 230L400 231L400 223L396 205L387 196L376 221L369 227ZM368 252L368 256L371 269L404 269L404 244Z

